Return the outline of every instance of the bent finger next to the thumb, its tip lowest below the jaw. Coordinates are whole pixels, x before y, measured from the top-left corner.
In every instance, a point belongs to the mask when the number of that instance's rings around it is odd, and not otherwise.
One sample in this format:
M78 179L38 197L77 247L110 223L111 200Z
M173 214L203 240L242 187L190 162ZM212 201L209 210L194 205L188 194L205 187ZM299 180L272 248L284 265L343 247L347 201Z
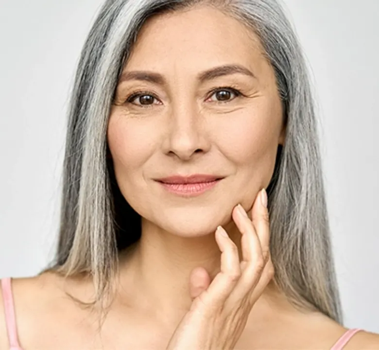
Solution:
M212 312L222 307L241 277L238 248L221 226L216 229L216 242L221 250L221 271L212 280L207 290L194 300L195 307L199 305L207 309L204 312Z

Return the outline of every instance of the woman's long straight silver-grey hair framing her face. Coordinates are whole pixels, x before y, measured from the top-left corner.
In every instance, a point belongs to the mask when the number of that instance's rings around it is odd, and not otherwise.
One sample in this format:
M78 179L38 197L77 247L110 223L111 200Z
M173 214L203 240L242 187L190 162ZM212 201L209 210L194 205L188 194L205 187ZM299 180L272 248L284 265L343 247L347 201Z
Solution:
M115 89L146 19L199 3L237 18L258 35L284 106L267 188L275 281L293 305L342 323L329 238L310 79L298 39L278 0L107 0L86 38L73 84L57 252L45 269L88 274L95 299L111 294L119 253L140 238L140 217L121 195L106 130Z

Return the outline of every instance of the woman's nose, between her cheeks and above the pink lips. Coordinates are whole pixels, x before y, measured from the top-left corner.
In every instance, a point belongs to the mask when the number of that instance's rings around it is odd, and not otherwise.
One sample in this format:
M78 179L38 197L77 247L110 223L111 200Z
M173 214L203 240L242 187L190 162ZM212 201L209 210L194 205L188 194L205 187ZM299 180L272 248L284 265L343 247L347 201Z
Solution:
M196 105L172 106L169 118L166 154L189 160L194 154L206 153L210 147L207 121Z

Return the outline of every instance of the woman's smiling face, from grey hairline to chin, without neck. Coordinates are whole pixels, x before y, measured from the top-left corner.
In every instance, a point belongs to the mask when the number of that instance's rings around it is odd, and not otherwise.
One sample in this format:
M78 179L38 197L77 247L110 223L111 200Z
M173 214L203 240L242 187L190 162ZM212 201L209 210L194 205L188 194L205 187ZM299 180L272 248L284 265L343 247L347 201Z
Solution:
M274 71L238 20L204 6L145 23L107 132L120 190L144 219L181 236L226 225L268 186L284 137ZM156 181L194 174L222 179L192 195Z

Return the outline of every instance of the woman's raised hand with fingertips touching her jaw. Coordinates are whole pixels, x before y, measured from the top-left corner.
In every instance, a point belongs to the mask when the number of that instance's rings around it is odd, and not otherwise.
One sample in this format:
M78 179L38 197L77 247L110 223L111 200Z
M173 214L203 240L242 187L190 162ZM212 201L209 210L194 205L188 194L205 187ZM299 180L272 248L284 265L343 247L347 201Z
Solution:
M166 350L229 350L236 345L254 303L274 277L269 249L269 214L261 205L260 193L251 211L252 220L241 206L236 206L232 212L242 235L242 261L237 246L219 226L216 242L222 252L221 271L209 284L210 278L204 268L192 270L190 294L193 301Z

